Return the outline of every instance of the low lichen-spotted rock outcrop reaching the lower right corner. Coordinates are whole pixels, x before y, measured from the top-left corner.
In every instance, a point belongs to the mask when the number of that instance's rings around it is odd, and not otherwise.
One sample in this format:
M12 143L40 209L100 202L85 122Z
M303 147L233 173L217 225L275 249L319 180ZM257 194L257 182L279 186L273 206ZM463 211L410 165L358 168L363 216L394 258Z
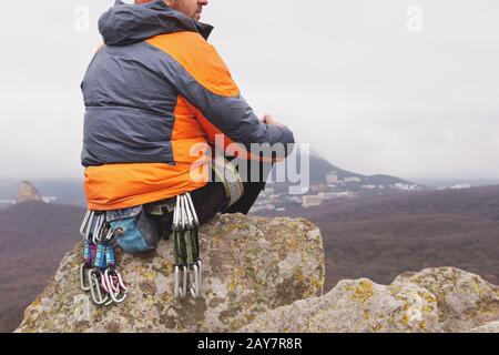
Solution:
M241 332L464 332L492 320L499 287L441 267L400 275L389 286L342 281L324 296L261 314ZM497 323L483 329L497 331Z

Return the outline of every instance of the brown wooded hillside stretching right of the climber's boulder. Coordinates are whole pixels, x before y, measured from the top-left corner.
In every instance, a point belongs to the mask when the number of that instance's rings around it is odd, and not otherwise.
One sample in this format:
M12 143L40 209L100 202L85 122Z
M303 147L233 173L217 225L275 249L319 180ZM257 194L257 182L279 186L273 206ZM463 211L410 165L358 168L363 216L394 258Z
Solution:
M262 215L305 217L320 227L327 288L344 278L389 283L405 271L444 265L499 284L499 186L327 201Z

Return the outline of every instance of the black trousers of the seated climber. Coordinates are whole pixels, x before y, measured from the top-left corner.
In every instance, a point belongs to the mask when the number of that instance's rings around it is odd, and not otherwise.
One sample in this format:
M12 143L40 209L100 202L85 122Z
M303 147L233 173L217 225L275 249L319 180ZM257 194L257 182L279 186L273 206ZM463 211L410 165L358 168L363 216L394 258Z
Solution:
M243 176L244 194L241 199L230 207L226 207L227 199L222 182L216 182L214 174L212 181L205 186L191 192L192 201L200 220L200 224L204 224L212 220L217 213L243 213L247 214L258 197L259 193L265 190L266 180L272 171L273 164L255 161L246 162L246 179ZM256 174L256 172L259 172ZM252 173L255 175L248 179ZM150 216L156 223L160 236L167 239L172 222L173 213L167 213L162 217Z

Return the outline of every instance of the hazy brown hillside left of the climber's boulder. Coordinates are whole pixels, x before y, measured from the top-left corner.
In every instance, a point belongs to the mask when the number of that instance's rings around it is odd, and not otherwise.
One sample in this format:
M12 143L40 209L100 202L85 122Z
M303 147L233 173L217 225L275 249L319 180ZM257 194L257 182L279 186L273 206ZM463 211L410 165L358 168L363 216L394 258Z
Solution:
M26 306L80 240L84 212L31 201L0 211L0 332L19 325Z

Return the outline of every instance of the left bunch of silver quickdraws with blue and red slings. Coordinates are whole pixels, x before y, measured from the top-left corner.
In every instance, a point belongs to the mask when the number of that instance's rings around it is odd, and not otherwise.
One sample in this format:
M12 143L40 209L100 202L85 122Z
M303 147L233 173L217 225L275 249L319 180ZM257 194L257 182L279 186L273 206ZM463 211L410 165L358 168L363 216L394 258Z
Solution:
M80 227L83 264L80 287L90 291L98 305L122 303L129 295L114 256L115 233L105 221L105 212L88 211Z

